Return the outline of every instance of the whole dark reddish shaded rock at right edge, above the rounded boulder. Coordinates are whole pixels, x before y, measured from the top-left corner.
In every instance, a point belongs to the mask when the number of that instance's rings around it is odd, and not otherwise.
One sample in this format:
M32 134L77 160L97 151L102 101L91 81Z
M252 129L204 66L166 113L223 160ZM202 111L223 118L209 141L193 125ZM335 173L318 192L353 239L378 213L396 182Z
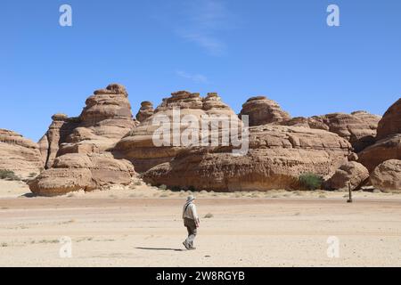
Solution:
M395 102L381 118L376 142L358 155L358 161L370 172L381 162L401 159L401 99Z

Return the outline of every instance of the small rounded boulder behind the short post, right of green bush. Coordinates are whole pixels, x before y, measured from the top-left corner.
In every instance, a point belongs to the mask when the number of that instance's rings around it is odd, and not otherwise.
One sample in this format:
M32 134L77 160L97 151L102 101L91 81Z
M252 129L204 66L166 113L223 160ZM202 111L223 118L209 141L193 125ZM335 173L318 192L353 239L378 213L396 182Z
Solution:
M334 175L327 181L327 187L331 190L359 189L369 178L369 171L356 161L349 161L339 167Z

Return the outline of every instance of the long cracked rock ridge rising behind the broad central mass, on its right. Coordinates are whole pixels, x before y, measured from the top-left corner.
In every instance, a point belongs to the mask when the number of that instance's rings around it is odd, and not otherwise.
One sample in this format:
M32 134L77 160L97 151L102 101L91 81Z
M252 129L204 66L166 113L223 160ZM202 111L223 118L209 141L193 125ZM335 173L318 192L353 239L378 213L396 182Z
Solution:
M351 114L332 113L311 118L293 118L282 124L286 126L309 126L339 134L351 142L354 150L359 152L374 143L380 119L381 117L365 111L356 111Z

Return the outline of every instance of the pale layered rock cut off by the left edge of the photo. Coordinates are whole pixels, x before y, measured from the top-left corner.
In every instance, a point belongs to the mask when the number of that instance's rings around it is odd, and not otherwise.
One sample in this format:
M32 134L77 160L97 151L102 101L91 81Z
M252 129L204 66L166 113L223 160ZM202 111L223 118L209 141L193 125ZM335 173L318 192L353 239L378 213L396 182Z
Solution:
M10 170L22 178L39 174L43 161L37 143L15 132L0 129L0 170Z

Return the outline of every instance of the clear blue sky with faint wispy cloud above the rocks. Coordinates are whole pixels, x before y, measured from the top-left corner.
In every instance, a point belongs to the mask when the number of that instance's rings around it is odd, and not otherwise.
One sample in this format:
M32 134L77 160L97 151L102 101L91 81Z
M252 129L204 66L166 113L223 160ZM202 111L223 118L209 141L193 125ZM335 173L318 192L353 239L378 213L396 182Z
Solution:
M37 141L54 113L78 116L112 82L134 113L189 90L237 112L265 94L293 117L382 115L401 94L400 15L399 0L3 0L0 127Z

